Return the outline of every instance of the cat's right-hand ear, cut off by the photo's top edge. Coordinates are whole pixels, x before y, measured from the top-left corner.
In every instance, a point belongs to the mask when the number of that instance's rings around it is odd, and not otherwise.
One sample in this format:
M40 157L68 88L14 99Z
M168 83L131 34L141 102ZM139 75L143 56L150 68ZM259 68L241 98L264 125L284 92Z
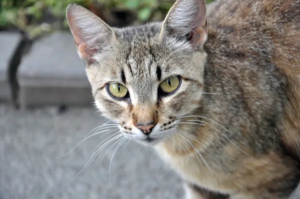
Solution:
M205 0L177 0L168 11L161 31L186 36L194 47L202 47L207 38Z

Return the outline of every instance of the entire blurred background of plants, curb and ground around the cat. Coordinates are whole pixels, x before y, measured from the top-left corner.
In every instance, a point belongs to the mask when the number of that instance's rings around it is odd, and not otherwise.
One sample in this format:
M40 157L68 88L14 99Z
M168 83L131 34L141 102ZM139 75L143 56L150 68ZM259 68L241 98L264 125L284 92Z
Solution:
M77 3L111 26L138 25L174 1L0 0L1 199L183 197L156 153L116 137L92 105L65 19Z

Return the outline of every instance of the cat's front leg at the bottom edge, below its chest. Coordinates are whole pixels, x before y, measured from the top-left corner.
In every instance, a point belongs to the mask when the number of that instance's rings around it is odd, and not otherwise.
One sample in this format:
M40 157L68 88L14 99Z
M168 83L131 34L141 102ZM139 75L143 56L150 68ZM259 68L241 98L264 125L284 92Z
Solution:
M226 195L212 192L197 185L185 183L185 199L228 199Z

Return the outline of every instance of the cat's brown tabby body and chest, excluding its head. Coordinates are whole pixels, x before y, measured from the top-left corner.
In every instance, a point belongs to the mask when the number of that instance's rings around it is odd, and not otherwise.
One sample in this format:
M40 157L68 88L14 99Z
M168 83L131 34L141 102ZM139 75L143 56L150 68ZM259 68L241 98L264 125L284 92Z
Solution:
M199 118L213 127L193 131L198 140L207 143L207 131L215 137L205 147L192 143L215 179L191 146L190 155L168 142L158 150L187 181L225 193L249 192L236 198L285 198L300 180L299 164L282 142L290 139L285 144L298 152L292 142L300 135L300 1L295 2L219 0L208 6L203 92L219 94L204 94L201 109L192 114L223 126ZM260 188L286 195L263 196Z

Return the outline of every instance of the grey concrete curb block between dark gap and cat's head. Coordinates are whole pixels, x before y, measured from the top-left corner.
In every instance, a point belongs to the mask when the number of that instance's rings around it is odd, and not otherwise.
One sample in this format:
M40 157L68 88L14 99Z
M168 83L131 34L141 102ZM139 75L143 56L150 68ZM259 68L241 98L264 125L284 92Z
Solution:
M90 105L84 68L69 32L54 32L35 41L18 70L21 107Z

